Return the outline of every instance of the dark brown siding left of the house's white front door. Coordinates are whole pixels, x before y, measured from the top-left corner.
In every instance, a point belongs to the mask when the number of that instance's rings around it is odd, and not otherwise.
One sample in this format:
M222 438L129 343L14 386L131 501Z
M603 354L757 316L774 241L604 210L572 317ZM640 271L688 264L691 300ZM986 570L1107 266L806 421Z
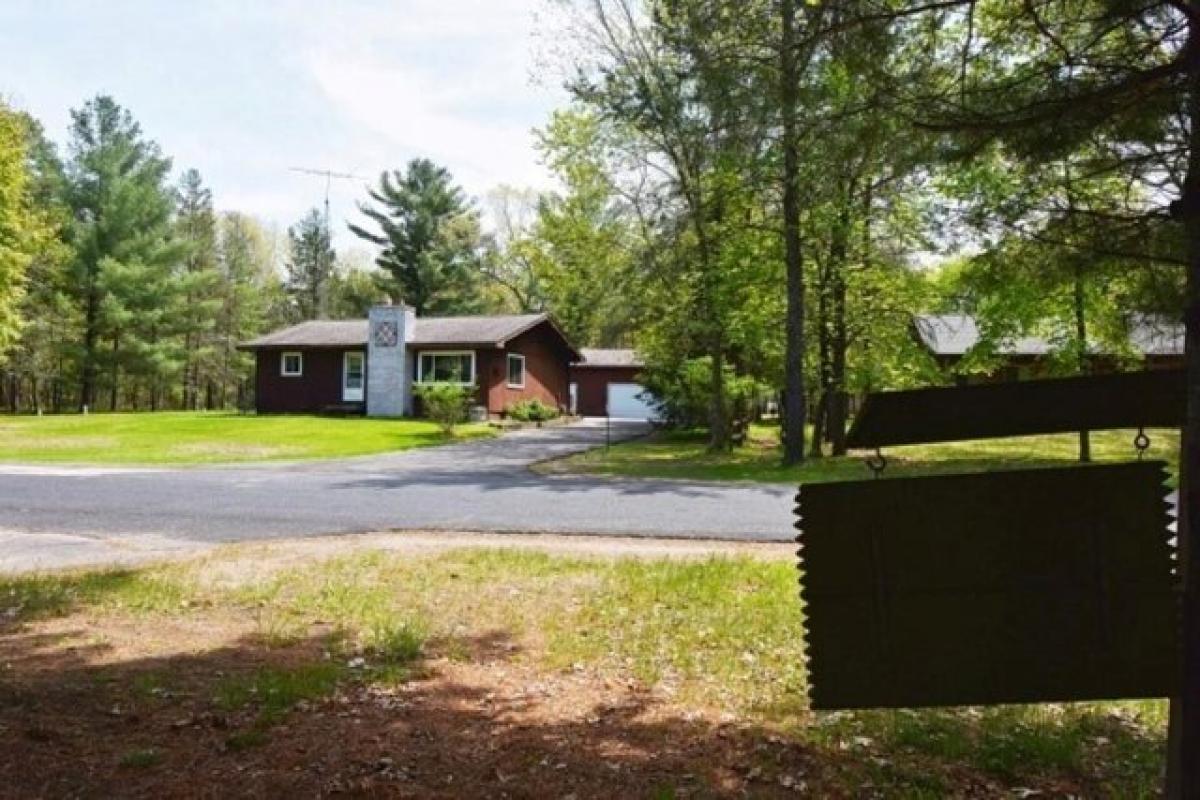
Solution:
M364 348L271 348L254 356L254 408L259 414L300 414L342 405L342 357ZM280 374L283 353L304 354L304 374ZM365 396L365 395L364 395Z

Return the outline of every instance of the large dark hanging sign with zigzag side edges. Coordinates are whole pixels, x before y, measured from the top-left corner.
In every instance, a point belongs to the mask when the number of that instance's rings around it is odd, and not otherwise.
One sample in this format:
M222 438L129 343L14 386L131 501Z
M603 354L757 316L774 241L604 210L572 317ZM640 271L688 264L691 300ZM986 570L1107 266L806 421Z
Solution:
M1165 464L800 488L816 709L1165 697Z

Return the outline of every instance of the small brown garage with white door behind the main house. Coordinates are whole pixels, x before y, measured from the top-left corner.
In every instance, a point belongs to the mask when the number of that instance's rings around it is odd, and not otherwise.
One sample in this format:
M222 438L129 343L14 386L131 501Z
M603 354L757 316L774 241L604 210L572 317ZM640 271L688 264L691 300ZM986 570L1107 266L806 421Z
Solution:
M571 410L583 416L648 420L653 402L638 383L644 366L634 350L582 348L571 365Z

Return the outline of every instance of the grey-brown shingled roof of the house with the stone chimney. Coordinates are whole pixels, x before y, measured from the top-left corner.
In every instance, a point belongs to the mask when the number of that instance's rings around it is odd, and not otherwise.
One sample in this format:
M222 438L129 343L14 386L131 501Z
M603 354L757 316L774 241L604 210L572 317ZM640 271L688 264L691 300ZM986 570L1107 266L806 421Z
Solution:
M421 317L415 320L408 344L504 344L541 323L550 323L576 356L575 348L547 314L498 314L491 317ZM366 319L314 319L244 342L247 350L280 347L366 347Z

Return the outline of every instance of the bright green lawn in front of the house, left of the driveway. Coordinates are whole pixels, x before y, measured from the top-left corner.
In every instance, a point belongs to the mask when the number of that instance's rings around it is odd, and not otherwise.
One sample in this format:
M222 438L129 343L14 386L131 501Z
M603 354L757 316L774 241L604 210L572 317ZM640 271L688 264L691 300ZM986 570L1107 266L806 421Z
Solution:
M461 426L455 438L492 435ZM334 458L443 444L433 422L163 411L0 416L0 462L209 464Z

